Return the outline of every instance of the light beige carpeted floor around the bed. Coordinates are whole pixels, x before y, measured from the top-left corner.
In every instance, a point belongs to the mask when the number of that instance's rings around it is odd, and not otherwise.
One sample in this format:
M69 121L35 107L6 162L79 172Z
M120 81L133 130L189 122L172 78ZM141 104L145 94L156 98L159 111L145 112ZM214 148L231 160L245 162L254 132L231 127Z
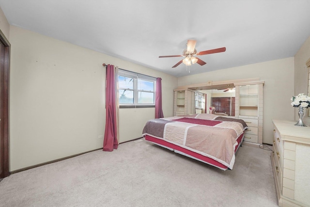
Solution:
M10 175L0 207L277 207L270 151L222 171L141 139Z

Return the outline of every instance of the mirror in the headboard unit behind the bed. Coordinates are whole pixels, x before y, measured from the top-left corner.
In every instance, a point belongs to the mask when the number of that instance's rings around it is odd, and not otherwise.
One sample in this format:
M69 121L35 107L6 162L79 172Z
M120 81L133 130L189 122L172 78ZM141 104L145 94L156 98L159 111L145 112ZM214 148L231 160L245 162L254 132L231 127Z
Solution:
M215 111L206 110L207 113L214 112L216 115L235 116L235 88L202 90L200 92L207 95L207 109L215 108Z

